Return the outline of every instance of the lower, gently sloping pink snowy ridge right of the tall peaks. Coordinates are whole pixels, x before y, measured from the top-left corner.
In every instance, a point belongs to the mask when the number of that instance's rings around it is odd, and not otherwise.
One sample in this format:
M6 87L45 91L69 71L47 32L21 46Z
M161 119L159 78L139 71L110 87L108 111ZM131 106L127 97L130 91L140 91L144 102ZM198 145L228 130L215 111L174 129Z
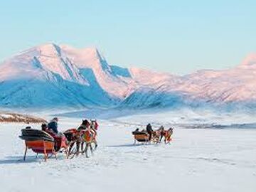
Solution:
M123 107L256 107L256 54L230 70L200 70L190 75L140 87Z

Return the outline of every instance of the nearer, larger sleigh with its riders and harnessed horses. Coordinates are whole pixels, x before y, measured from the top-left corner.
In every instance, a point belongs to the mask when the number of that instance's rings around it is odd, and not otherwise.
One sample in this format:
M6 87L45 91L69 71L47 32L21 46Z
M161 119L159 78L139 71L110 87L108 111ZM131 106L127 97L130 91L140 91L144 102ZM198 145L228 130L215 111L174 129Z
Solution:
M68 129L65 132L58 132L58 118L54 117L48 124L42 124L41 130L21 129L20 138L25 140L25 153L23 160L26 159L27 149L32 149L36 154L44 154L44 159L48 159L49 154L54 155L64 152L67 158L73 158L78 154L85 154L90 148L93 153L92 144L97 148L97 121L85 119L78 129ZM84 149L85 145L85 149Z

